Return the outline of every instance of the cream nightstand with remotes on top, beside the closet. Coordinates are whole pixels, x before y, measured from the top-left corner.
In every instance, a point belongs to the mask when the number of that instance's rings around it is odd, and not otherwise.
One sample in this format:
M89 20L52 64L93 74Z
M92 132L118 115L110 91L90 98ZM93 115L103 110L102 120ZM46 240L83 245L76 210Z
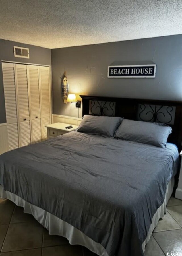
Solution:
M77 125L71 125L73 128L71 129L66 129L65 127L70 126L71 124L68 123L53 123L51 125L45 125L47 127L47 137L49 138L54 138L56 136L69 133L75 129L78 128Z

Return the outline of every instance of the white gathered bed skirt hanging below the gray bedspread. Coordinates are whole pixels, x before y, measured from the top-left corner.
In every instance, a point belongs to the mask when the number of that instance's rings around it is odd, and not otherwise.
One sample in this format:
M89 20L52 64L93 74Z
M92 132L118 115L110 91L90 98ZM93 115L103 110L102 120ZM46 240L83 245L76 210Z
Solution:
M146 237L146 240L142 244L143 251L145 250L145 245L148 243L150 236L152 235L154 228L157 226L159 219L162 218L166 213L166 205L169 198L171 197L173 187L174 178L172 178L171 181L169 181L168 183L164 203L158 208L157 212L154 214L152 218L152 224L150 225L148 235ZM69 243L71 245L82 245L100 256L109 256L101 244L96 243L77 228L74 228L67 222L57 218L56 216L49 212L46 212L45 210L42 210L41 208L35 205L27 203L25 200L18 197L17 195L10 193L9 191L5 191L1 185L0 195L1 198L8 198L16 205L23 207L25 213L32 214L34 218L40 224L42 224L42 226L49 230L50 235L63 236L69 240Z

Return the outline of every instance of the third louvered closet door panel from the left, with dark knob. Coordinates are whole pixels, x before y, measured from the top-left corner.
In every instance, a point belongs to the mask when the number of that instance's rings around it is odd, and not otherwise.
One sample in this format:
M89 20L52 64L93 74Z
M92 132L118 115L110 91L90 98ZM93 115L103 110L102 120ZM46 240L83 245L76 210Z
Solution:
M30 112L32 125L32 142L41 141L41 110L40 110L40 86L38 66L28 65L28 84L30 92Z

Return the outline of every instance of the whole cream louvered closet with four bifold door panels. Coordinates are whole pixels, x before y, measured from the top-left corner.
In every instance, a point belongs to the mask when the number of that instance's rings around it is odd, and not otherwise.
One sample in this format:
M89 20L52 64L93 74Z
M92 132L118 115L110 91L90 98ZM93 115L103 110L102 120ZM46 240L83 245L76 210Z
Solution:
M49 67L2 62L9 150L47 139Z

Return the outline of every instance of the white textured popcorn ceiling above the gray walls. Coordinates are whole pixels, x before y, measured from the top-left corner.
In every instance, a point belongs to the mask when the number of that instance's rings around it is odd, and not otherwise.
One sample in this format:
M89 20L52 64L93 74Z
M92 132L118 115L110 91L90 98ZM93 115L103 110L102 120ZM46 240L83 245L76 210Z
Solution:
M182 34L182 0L0 0L0 38L47 48Z

